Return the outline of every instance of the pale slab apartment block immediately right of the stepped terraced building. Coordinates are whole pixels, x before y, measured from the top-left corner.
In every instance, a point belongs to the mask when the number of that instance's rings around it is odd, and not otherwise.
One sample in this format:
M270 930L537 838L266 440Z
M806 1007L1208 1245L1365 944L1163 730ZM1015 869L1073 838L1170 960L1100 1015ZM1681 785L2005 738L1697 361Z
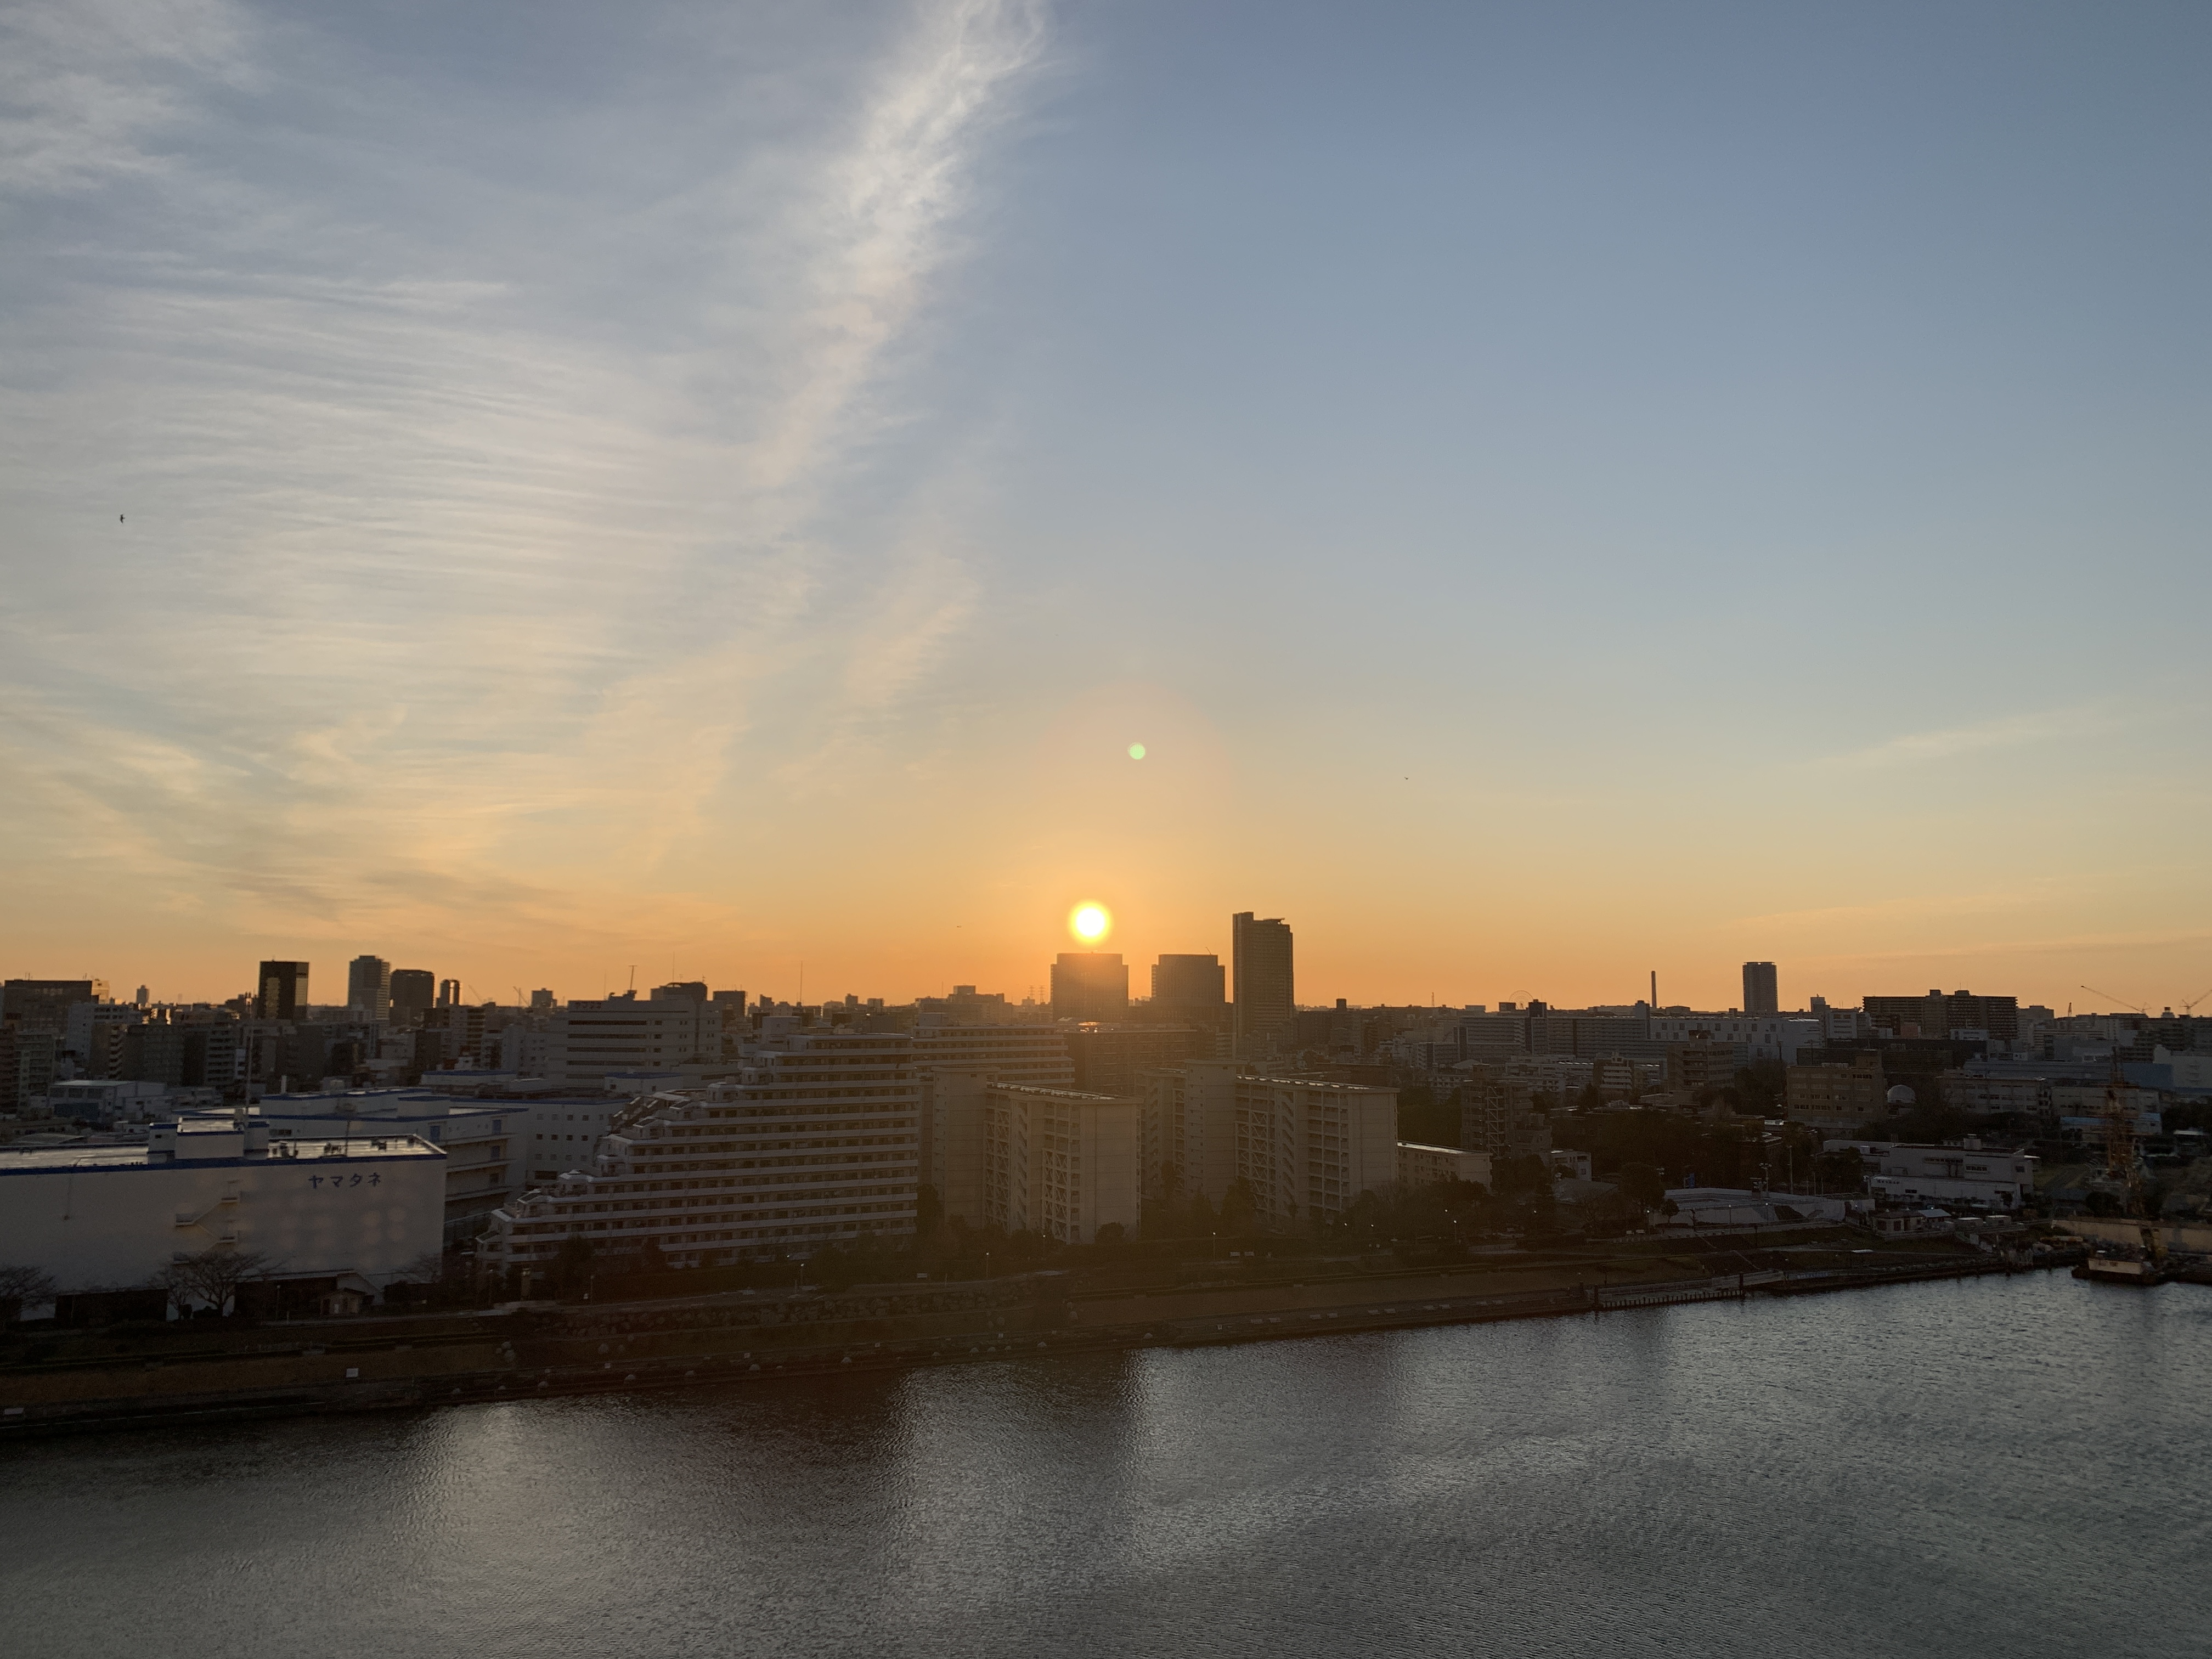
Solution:
M929 1095L933 1186L945 1217L1093 1243L1137 1232L1144 1106L1124 1095L945 1073Z

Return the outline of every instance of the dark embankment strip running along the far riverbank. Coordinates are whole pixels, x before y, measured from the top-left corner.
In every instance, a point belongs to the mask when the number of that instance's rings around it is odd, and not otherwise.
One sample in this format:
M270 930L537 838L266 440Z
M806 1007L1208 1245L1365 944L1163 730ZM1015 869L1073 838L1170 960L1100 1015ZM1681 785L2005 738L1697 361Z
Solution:
M1473 1265L1290 1283L1068 1296L1060 1276L931 1292L706 1296L602 1307L261 1327L195 1347L153 1334L124 1352L33 1352L0 1367L9 1433L363 1411L619 1389L701 1387L982 1358L1217 1345L1495 1318L1601 1314L1736 1296L2006 1272L1989 1256L1867 1267L1632 1261ZM53 1343L49 1347L64 1347Z

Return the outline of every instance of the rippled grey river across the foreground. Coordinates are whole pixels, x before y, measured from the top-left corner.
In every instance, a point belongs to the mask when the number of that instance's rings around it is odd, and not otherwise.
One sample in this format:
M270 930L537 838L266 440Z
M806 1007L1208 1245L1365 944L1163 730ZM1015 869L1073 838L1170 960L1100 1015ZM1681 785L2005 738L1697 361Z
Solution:
M0 1447L13 1659L2212 1652L2212 1290L2064 1274Z

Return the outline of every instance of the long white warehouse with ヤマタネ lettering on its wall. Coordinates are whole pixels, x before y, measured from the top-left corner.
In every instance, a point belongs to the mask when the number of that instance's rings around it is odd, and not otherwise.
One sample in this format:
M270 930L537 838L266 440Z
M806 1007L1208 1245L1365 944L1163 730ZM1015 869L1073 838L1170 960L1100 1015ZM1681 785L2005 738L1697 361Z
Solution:
M146 1146L0 1150L0 1263L62 1294L144 1285L219 1245L263 1254L272 1279L380 1294L438 1250L442 1217L445 1152L411 1135L279 1144L210 1117L155 1124Z

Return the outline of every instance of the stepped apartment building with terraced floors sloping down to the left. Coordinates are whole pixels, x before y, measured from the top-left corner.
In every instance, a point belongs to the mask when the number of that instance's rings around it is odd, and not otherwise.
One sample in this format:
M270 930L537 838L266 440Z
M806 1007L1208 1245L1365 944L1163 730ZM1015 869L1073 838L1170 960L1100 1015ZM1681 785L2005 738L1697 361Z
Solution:
M646 1095L591 1164L491 1214L491 1267L568 1239L668 1265L810 1254L914 1232L920 1082L905 1035L794 1035L730 1082Z

